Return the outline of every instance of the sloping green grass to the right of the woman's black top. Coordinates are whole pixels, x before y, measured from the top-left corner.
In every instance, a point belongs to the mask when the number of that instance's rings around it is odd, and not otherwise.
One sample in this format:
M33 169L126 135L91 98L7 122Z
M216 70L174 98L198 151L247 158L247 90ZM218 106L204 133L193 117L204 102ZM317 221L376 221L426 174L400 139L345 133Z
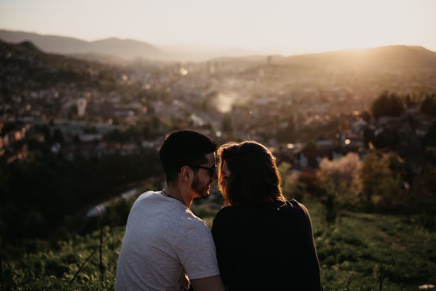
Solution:
M319 204L307 204L325 290L379 290L382 263L395 264L383 290L420 290L436 283L436 234L404 217L342 213L334 226L323 223Z

